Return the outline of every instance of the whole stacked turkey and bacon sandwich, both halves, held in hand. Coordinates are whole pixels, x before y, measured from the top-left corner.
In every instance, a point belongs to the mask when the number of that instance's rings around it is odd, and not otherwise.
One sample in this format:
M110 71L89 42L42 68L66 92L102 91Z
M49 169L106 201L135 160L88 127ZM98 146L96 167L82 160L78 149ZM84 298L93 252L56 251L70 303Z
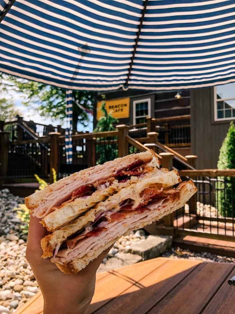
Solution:
M78 273L132 230L181 208L196 192L176 170L159 168L148 150L82 170L26 198L51 233L42 258L64 273Z

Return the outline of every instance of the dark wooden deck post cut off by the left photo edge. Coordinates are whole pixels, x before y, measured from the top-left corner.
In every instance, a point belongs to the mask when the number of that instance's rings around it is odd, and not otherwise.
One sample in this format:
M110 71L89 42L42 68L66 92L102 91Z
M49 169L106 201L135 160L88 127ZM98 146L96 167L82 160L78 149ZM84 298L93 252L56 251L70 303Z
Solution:
M4 183L4 177L7 176L8 168L8 146L10 141L9 132L0 132L0 187ZM2 177L2 179L1 179Z

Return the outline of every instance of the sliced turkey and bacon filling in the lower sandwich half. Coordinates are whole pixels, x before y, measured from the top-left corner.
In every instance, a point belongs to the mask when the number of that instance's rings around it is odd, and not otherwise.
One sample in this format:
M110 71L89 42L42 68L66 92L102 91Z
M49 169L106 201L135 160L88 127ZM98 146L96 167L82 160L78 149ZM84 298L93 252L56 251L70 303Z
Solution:
M154 191L154 188L143 191L146 198L146 205L138 208L127 209L120 207L118 212L108 211L97 215L95 223L92 224L93 230L82 233L71 240L67 240L67 249L59 250L51 262L68 263L76 257L82 257L86 254L92 256L99 246L104 246L116 237L122 236L130 226L137 222L149 220L151 215L156 215L156 210L160 213L165 211L166 206L172 207L179 201L180 191L183 192L186 182L181 183L175 189L164 191ZM150 202L149 202L150 200ZM123 210L123 208L125 208ZM90 228L91 224L90 224ZM89 229L90 230L90 229Z

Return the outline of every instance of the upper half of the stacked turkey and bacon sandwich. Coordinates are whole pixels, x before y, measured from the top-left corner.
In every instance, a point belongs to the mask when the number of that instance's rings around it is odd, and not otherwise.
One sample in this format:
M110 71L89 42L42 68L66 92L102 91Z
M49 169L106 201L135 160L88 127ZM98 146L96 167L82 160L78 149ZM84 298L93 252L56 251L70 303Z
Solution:
M25 204L48 231L55 231L158 168L152 150L128 155L63 178L25 198Z

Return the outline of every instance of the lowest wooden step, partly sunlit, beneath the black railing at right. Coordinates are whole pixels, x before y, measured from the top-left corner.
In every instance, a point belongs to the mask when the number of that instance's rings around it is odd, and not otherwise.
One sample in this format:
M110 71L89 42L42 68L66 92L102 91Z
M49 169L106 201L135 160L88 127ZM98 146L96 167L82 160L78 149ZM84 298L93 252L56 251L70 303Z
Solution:
M209 252L217 255L235 256L235 242L215 240L196 236L176 236L173 246L179 246L194 252Z

